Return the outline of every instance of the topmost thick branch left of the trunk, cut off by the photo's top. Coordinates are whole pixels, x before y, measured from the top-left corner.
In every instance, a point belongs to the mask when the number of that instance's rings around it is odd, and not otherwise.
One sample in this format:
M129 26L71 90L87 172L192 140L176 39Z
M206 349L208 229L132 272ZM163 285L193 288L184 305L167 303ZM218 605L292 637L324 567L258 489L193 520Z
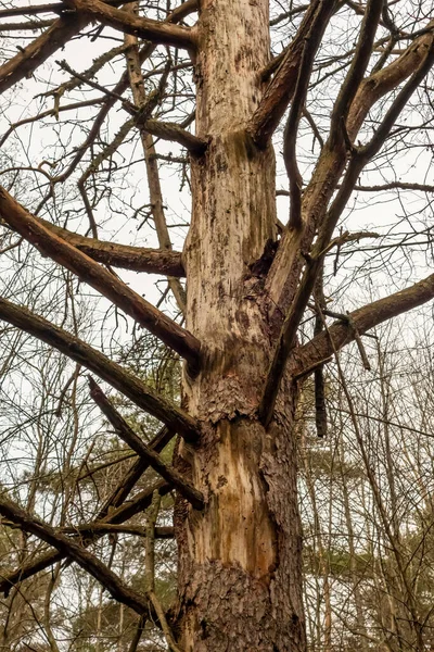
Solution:
M87 15L88 20L97 18L103 25L110 25L114 29L139 36L151 42L187 49L195 47L195 35L190 27L139 17L100 0L67 0L66 4L76 9L79 16L82 14Z

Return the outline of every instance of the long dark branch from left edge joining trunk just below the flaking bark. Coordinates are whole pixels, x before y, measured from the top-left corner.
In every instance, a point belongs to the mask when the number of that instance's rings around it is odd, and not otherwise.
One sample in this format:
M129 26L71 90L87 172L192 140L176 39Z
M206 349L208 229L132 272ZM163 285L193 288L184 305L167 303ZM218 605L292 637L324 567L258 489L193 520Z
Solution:
M25 308L0 299L0 319L13 324L34 337L58 349L78 364L87 367L112 387L128 397L136 405L145 410L167 426L177 430L189 441L197 441L196 422L179 408L157 396L144 383L128 374L123 367L74 337Z

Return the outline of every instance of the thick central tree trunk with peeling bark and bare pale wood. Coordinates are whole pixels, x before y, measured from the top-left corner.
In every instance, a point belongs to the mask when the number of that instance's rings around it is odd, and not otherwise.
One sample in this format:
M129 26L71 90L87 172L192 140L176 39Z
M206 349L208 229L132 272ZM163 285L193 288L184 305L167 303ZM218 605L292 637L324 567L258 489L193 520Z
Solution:
M264 274L276 240L275 158L245 135L268 63L267 0L201 2L193 214L184 251L188 329L203 367L186 375L184 405L202 424L192 464L204 513L179 504L186 652L303 651L295 389L265 430L257 406L270 360Z

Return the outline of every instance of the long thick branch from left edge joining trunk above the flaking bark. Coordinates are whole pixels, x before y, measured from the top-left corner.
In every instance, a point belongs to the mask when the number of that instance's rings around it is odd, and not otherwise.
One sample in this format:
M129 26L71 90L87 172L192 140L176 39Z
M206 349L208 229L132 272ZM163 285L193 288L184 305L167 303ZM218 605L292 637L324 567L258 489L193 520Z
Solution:
M0 216L42 254L77 274L81 280L113 301L141 326L184 358L192 369L197 368L200 343L195 337L107 269L48 230L2 188L0 188Z

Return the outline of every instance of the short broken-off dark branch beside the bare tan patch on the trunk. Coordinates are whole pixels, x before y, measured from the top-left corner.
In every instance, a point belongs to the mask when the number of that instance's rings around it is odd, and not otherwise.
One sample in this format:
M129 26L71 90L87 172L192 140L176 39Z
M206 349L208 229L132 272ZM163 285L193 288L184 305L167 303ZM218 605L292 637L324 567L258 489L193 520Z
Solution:
M149 446L144 443L142 439L129 427L127 422L120 416L120 414L113 408L104 392L97 385L97 383L89 378L90 396L100 408L101 412L105 414L108 422L115 428L116 432L138 455L148 462L150 466L162 478L171 485L179 493L186 498L196 510L203 510L204 498L201 491L197 491L194 487L189 485L183 477L176 471L165 464L162 457L153 451Z

